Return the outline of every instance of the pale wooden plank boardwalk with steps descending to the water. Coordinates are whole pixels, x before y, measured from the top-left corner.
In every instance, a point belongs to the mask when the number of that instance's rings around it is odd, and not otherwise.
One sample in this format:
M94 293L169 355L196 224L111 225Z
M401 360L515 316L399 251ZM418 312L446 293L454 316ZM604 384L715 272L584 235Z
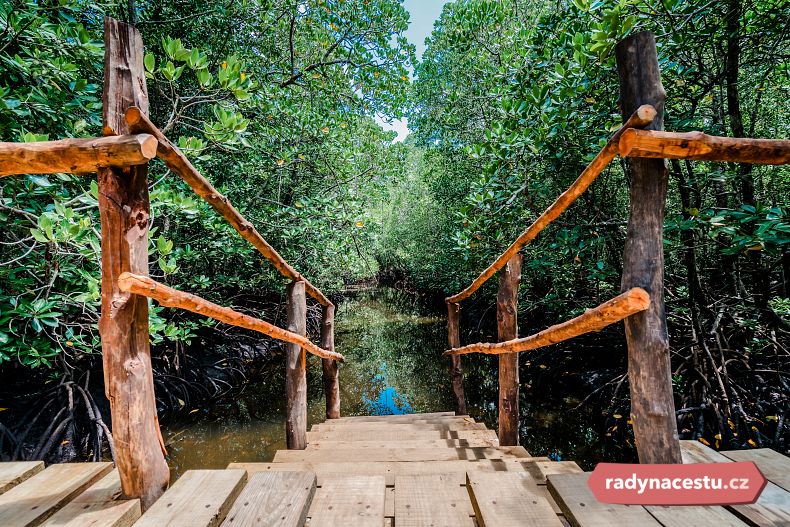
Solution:
M499 447L469 417L344 417L271 463L189 471L142 516L137 500L119 499L110 463L0 463L0 527L790 526L790 459L683 450L690 463L754 461L771 483L753 505L607 505L576 463Z

